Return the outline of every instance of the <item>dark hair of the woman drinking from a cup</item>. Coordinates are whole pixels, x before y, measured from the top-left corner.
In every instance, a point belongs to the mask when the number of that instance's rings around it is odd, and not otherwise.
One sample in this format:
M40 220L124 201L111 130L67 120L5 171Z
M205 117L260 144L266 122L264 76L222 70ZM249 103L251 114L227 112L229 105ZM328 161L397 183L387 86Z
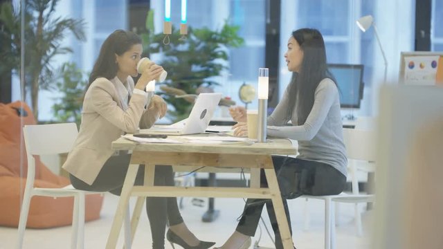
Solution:
M96 64L89 75L87 89L98 77L105 77L108 80L114 79L118 72L116 55L123 55L135 44L141 44L141 38L131 31L116 30L109 35L103 42Z

